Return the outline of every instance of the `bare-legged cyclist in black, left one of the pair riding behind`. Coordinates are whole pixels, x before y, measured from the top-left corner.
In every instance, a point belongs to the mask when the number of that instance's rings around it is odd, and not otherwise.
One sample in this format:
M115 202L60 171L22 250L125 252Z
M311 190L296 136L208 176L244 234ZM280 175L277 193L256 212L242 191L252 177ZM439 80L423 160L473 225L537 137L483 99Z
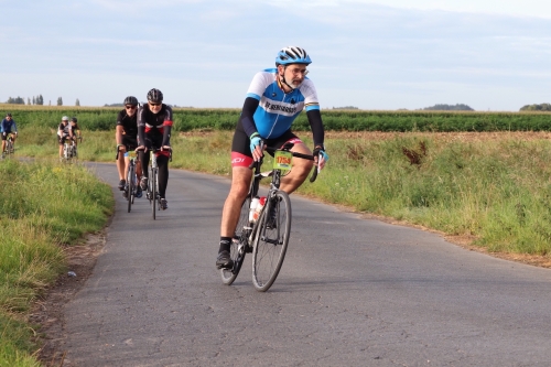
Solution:
M125 98L125 109L119 111L117 116L117 129L115 131L115 140L117 141L117 150L119 159L117 160L117 170L119 171L119 190L126 192L128 175L128 164L130 159L128 152L138 148L138 98L128 96ZM141 179L140 161L136 164L136 174L138 180ZM138 185L136 197L141 197L142 191Z

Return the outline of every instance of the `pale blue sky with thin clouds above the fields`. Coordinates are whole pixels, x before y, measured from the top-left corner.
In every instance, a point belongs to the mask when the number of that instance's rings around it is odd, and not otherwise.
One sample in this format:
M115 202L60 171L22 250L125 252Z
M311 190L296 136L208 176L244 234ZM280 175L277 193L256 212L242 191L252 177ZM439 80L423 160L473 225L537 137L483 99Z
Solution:
M0 0L0 101L242 106L288 45L322 108L511 110L551 102L547 0Z

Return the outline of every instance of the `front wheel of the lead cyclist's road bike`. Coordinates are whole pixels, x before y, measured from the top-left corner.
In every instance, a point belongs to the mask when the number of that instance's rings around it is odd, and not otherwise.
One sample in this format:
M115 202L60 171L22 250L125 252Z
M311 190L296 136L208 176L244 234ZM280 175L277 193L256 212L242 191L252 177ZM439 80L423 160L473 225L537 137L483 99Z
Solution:
M273 205L277 226L269 227ZM291 234L291 199L283 191L277 191L260 214L252 248L252 284L259 292L269 290L281 270Z

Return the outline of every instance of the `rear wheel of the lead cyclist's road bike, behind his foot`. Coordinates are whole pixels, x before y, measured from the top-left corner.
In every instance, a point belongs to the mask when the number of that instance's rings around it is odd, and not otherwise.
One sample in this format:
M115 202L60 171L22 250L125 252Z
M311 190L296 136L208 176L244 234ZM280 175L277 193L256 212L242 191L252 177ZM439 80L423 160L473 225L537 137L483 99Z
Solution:
M241 205L241 213L239 214L239 220L237 222L236 231L234 234L234 239L236 240L231 240L231 246L229 248L229 256L234 261L234 267L231 269L220 269L222 282L226 285L231 285L231 283L234 283L245 261L245 247L248 246L247 230L245 227L249 225L249 208L250 196L248 196Z

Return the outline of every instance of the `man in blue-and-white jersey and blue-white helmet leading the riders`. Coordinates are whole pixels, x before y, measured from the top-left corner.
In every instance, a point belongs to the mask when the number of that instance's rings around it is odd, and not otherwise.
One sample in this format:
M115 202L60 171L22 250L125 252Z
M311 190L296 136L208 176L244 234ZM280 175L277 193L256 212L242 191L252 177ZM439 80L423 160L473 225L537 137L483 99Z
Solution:
M311 63L304 48L285 47L276 56L276 68L264 69L252 78L231 143L231 187L222 213L220 242L216 259L218 269L233 267L229 255L231 238L249 191L252 175L249 165L263 154L261 141L271 148L293 142L292 151L312 154L291 131L294 119L302 110L306 110L314 138L314 163L304 159L293 160L293 169L282 177L280 186L288 194L306 180L312 164L323 169L328 160L323 144L324 129L317 94L312 80L306 78L306 66ZM320 154L322 159L318 162Z

